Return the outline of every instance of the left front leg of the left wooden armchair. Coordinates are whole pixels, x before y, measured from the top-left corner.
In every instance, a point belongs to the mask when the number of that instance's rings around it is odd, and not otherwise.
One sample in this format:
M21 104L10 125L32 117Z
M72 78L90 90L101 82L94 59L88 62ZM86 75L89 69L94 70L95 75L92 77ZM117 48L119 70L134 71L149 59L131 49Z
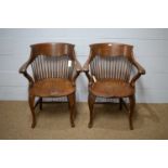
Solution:
M33 117L31 128L35 128L35 126L36 126L36 115L35 115L35 107L34 107L34 104L35 104L35 96L34 95L29 95L28 103L29 103L29 107L30 107L30 111L31 111L31 117Z

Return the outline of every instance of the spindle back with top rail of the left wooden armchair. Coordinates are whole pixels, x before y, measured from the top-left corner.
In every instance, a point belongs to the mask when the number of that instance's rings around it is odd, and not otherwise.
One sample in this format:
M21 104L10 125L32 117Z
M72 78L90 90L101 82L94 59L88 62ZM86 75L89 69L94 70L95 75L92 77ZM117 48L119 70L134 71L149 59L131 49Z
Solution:
M75 61L74 44L38 43L30 47L35 81L46 78L70 78Z

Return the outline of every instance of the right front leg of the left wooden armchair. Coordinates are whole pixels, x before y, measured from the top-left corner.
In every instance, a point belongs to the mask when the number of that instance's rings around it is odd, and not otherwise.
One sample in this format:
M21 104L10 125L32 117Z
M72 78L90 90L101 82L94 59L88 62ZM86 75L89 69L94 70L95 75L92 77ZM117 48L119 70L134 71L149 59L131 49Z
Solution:
M68 107L70 113L70 125L75 127L74 118L75 118L75 93L67 95L68 99Z

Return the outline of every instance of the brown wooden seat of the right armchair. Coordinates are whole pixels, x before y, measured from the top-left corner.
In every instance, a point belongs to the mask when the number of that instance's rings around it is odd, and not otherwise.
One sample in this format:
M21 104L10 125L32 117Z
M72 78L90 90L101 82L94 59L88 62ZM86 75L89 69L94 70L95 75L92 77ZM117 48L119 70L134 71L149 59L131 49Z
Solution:
M124 81L105 79L94 82L90 92L95 96L126 98L134 93L134 88Z

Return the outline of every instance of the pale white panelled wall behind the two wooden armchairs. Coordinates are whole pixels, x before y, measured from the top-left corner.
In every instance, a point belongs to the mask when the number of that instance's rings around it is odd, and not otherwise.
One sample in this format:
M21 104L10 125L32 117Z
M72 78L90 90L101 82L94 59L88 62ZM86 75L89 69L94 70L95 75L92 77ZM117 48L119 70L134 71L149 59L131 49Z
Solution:
M137 83L137 101L168 103L168 29L0 29L0 100L27 100L27 80L18 67L28 59L29 44L50 41L76 44L82 65L90 43L133 44L146 69ZM77 81L77 99L87 101L83 74Z

